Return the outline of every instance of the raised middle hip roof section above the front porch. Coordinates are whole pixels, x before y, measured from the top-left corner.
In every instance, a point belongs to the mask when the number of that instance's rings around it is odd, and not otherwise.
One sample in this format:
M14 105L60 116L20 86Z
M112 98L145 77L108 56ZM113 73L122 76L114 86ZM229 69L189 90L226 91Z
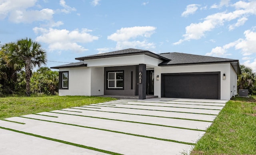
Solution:
M114 52L107 52L107 53L102 53L102 54L95 54L91 56L84 56L84 57L79 57L75 58L76 60L90 60L90 59L100 59L100 58L112 58L112 57L118 57L118 56L133 56L133 55L139 55L139 54L145 54L147 56L151 56L153 58L157 58L160 60L168 61L168 58L165 58L163 56L160 56L158 54L155 54L153 52L147 51L147 50L139 50L139 49L134 49L134 48L128 48L125 50L118 50Z

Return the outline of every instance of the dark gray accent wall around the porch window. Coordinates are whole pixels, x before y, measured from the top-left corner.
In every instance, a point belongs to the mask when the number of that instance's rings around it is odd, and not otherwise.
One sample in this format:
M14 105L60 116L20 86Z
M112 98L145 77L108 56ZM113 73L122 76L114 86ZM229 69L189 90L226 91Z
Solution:
M136 95L136 66L115 66L115 67L105 67L104 68L104 95ZM124 89L123 90L112 90L106 89L107 85L107 74L108 71L124 71ZM131 74L133 72L133 74ZM133 76L131 78L131 76ZM131 82L131 79L133 80Z

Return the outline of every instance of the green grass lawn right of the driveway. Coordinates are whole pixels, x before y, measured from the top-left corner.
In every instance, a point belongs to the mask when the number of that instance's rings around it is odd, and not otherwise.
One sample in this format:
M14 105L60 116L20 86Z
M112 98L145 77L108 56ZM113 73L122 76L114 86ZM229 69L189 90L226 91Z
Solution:
M191 154L256 154L256 96L228 101Z

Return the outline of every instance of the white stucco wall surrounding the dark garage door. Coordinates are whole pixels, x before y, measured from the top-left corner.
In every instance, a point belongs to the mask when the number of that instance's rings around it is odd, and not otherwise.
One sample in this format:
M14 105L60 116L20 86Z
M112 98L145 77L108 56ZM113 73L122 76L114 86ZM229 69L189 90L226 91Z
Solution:
M154 81L154 95L161 97L161 74L164 73L190 73L190 72L220 72L220 99L230 99L230 64L205 64L190 66L166 66L155 67L155 76L159 75L159 81ZM226 74L226 80L222 79L222 75ZM232 72L233 74L233 72Z

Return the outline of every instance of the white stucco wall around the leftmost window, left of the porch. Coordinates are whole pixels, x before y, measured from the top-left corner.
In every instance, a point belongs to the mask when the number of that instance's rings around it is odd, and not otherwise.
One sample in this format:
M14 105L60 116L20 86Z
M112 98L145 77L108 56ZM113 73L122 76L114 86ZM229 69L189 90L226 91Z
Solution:
M59 95L91 95L91 68L64 68L60 71L69 71L68 89L59 89Z

